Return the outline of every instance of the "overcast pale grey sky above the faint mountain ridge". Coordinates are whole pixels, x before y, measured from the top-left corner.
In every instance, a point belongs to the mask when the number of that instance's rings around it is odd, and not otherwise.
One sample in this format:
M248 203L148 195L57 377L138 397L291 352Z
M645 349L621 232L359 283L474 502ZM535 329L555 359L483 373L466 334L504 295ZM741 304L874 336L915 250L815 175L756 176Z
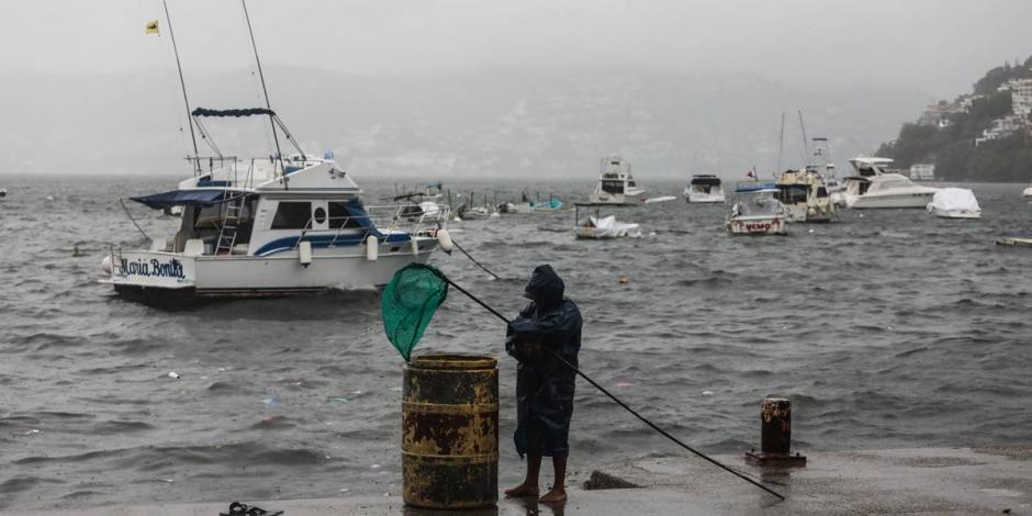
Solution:
M191 69L250 65L239 2L168 0ZM250 0L262 59L357 74L479 67L749 71L953 97L1032 54L1028 0ZM159 0L4 1L0 70L170 65Z

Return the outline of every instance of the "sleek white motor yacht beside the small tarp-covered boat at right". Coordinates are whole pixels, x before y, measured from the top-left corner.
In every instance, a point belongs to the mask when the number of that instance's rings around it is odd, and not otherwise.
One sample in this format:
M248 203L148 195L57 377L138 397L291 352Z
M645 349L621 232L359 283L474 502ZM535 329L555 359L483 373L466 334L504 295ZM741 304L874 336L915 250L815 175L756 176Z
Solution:
M852 209L924 207L938 188L915 184L910 178L887 168L888 158L850 160L857 176L845 178L842 199Z

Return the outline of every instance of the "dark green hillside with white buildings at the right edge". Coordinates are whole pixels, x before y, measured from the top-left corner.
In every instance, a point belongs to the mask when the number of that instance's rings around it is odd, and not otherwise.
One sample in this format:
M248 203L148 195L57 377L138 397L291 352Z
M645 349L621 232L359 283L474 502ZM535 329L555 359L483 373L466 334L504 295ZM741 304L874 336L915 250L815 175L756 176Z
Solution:
M1016 100L1023 93L1008 89L1016 79L1032 79L1032 57L987 71L972 93L930 105L877 155L895 159L901 169L934 164L936 178L947 181L1029 181L1032 115Z

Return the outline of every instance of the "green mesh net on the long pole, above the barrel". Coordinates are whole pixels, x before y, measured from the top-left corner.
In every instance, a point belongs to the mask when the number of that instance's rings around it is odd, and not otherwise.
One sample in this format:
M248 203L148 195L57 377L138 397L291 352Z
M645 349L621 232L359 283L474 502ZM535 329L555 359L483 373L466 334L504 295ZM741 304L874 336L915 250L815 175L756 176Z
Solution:
M410 263L383 289L380 314L388 340L408 361L437 307L448 296L445 274L431 266Z

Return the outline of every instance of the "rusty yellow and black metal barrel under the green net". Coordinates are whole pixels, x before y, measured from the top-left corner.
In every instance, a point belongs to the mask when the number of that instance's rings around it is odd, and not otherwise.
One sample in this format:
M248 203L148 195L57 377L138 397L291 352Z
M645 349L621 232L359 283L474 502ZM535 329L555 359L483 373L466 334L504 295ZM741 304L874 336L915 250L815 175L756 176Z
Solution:
M424 355L402 389L405 504L435 509L498 501L498 362L475 355Z

